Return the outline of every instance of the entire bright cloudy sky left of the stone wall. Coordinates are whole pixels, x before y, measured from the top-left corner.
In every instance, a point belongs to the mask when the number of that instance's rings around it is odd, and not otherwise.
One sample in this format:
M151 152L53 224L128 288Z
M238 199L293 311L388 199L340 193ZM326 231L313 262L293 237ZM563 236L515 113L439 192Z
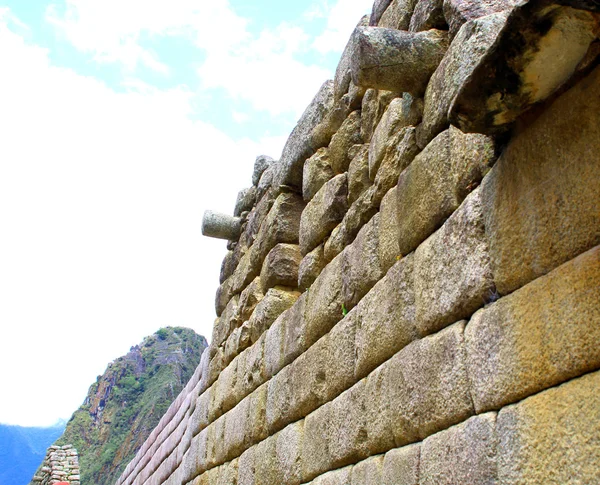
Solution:
M372 0L0 0L0 423L69 418L165 326L211 338L231 214Z

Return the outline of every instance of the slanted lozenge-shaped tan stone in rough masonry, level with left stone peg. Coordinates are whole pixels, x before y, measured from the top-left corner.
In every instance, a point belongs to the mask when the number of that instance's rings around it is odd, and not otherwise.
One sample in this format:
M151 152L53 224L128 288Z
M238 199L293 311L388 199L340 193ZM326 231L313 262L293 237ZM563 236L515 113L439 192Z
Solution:
M300 220L300 248L306 255L329 235L348 210L348 177L337 175L308 203Z

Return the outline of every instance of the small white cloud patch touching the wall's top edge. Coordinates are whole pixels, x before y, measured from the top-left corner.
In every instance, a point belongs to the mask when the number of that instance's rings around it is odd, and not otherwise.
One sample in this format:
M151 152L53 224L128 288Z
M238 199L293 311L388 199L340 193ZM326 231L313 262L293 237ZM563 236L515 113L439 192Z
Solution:
M342 52L350 34L363 15L371 13L373 0L338 0L329 7L327 28L313 42L322 54Z

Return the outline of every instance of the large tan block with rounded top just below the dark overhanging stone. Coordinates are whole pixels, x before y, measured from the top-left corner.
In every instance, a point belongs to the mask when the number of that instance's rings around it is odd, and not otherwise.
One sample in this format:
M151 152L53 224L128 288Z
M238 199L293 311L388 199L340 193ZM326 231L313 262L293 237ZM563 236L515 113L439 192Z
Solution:
M490 138L454 127L427 145L398 180L400 253L410 253L440 227L495 160Z

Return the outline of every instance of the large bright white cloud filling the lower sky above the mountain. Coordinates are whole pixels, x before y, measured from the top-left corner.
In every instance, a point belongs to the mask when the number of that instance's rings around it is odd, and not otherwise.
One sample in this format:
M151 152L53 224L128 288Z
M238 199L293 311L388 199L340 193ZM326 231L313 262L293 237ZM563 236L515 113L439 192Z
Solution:
M186 89L116 93L53 67L6 16L0 66L0 421L49 424L159 327L210 338L225 243L202 213L231 213L283 140L191 121Z

